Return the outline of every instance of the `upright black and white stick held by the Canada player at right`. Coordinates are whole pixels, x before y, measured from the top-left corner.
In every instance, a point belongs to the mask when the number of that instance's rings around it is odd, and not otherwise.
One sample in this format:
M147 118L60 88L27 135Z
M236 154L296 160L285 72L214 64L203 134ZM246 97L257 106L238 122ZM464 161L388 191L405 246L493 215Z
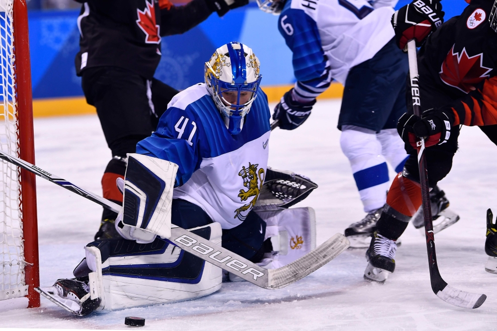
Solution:
M419 98L419 75L417 73L416 43L414 39L408 42L408 54L413 110L414 115L420 117L421 102ZM430 191L428 187L428 170L426 168L426 157L424 153L424 139L420 138L416 145L431 289L437 297L451 305L463 308L478 308L485 302L485 299L487 299L485 294L469 293L457 290L448 285L442 279L442 276L440 276L440 272L438 271L438 264L435 254L435 239L433 236L433 217L431 215Z

